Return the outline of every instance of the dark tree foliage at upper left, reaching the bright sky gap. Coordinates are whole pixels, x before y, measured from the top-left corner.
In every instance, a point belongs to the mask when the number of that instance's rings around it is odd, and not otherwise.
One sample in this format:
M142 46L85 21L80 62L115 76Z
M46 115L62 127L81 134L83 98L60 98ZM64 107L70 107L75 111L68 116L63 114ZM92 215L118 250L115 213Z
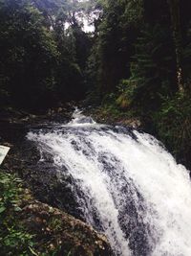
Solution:
M78 1L0 1L0 107L36 111L84 96L81 10Z

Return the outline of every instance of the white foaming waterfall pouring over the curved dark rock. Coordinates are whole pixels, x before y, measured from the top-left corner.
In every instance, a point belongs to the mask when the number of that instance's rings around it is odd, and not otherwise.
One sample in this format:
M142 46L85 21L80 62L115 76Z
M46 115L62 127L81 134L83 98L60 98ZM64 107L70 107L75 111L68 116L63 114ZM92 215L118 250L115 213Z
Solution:
M27 137L73 176L83 217L116 255L191 255L189 172L154 137L98 125L77 110L68 125Z

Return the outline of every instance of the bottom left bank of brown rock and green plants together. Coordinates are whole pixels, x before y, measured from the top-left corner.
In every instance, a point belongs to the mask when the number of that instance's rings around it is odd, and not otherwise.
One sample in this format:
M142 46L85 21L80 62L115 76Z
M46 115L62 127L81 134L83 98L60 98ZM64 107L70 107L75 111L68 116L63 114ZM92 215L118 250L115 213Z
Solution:
M15 174L0 169L1 255L111 255L88 224L32 197Z

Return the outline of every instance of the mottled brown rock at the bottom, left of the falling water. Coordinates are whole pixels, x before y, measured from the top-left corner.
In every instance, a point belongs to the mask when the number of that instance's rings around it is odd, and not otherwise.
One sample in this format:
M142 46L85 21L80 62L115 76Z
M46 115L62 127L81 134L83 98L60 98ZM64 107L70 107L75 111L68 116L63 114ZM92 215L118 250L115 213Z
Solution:
M38 253L45 252L46 248L58 247L54 255L112 255L104 235L48 204L33 200L23 207L21 218L25 226L35 234L37 244L42 244L38 246Z

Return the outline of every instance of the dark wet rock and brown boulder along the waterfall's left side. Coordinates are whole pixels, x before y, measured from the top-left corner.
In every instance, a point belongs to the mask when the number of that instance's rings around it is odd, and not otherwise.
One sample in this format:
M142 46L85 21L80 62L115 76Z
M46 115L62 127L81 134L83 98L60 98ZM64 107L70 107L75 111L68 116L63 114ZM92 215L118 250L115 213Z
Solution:
M43 118L17 116L1 120L0 143L11 147L1 169L18 174L32 193L32 198L22 207L22 219L39 238L40 244L59 245L59 252L55 255L71 251L70 255L77 256L109 256L112 252L106 237L86 224L76 210L79 207L70 186L72 176L54 169L53 159L48 153L43 156L46 161L42 161L41 152L26 139L31 128L52 128L58 121L67 123L73 108L66 110ZM50 223L55 225L53 230Z

